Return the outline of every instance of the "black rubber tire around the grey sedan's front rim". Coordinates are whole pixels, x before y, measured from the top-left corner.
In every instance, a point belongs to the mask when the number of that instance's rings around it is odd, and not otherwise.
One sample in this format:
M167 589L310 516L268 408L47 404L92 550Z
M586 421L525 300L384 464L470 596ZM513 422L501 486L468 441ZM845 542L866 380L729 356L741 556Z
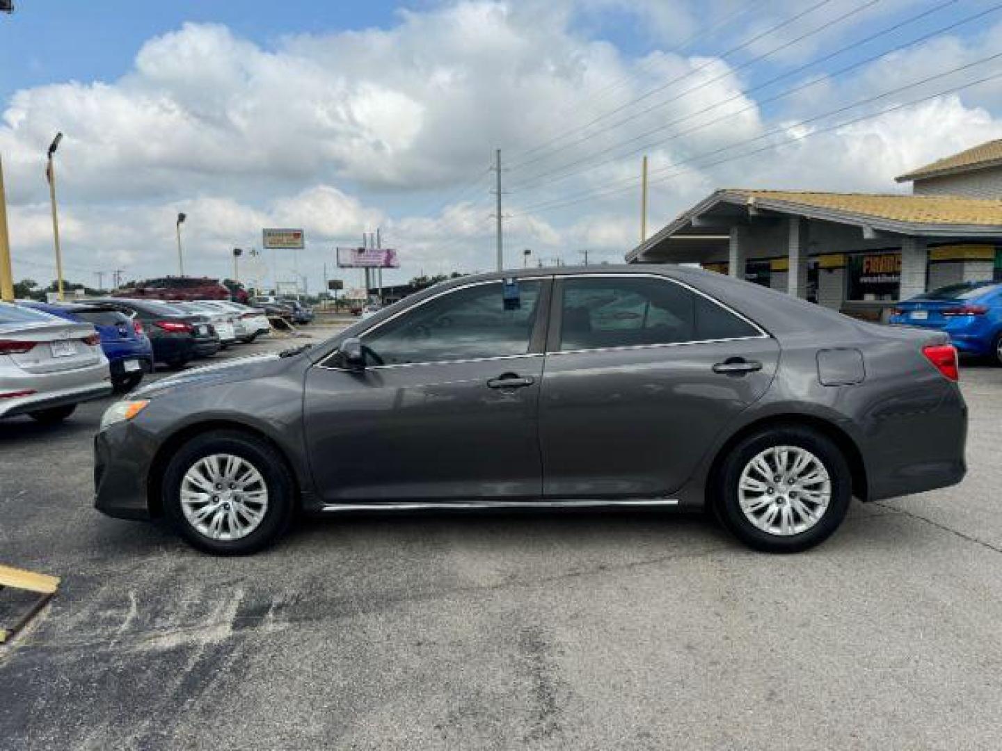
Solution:
M198 461L213 454L239 457L264 479L268 508L258 527L245 537L213 540L195 529L184 516L180 503L184 475ZM163 512L178 534L194 548L220 556L247 555L273 544L289 527L295 489L285 459L268 442L239 431L211 431L189 440L171 457L163 475Z

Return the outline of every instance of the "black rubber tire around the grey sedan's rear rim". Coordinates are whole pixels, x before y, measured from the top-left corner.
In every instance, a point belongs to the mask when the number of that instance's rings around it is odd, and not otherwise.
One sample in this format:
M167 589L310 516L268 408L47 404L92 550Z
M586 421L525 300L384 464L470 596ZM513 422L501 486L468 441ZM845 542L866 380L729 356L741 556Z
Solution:
M813 454L827 471L831 484L831 497L821 518L808 529L790 535L771 533L757 527L745 516L738 500L738 484L744 468L762 452L781 446L797 447ZM810 428L777 427L752 434L729 450L719 470L711 490L713 512L734 537L756 550L800 553L813 548L831 537L849 511L852 499L849 464L831 439ZM799 519L803 521L803 517Z

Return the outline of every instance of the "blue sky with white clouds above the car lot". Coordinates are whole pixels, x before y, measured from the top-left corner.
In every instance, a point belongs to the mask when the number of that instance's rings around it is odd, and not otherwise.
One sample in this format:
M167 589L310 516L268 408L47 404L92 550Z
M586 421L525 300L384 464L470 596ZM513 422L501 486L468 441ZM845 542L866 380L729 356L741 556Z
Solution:
M381 228L402 268L619 260L716 187L900 191L1002 137L1002 8L975 0L15 0L0 16L0 157L17 278L48 281L56 131L66 275L227 275L266 256L357 282L333 248Z

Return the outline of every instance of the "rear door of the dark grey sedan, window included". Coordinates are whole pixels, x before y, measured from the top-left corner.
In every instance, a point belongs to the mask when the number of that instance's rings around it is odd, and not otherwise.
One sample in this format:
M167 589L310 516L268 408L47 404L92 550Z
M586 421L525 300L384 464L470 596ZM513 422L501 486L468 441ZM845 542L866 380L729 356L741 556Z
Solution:
M663 498L769 387L779 345L656 274L558 277L539 430L548 499Z

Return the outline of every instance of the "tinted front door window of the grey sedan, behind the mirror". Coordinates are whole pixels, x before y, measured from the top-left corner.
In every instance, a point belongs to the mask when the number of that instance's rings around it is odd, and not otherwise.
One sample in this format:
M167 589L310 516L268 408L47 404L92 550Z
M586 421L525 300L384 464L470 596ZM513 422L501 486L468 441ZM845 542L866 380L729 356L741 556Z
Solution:
M501 282L458 289L363 338L386 364L524 354L536 320L539 289L538 281L519 282L507 295Z

